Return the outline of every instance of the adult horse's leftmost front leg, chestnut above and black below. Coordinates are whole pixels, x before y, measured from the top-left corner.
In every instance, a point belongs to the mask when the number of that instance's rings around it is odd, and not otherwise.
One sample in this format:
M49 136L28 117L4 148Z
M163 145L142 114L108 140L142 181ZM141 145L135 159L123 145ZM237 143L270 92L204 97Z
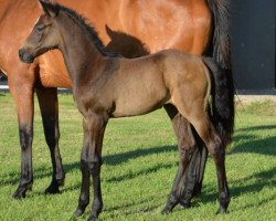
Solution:
M21 74L23 71L13 70L12 74ZM29 81L28 81L29 80ZM32 189L33 171L32 171L32 141L33 141L33 81L9 75L9 87L13 96L19 123L19 137L21 146L21 178L17 191L13 193L14 199L25 197L25 192Z

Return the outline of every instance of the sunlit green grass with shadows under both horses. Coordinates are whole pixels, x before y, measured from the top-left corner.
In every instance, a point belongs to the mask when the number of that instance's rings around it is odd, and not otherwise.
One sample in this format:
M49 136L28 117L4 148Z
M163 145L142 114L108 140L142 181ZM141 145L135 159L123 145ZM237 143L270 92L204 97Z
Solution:
M60 95L61 154L66 182L61 194L44 196L51 181L50 154L35 102L33 191L12 200L20 178L20 146L13 99L0 94L0 220L73 220L79 193L82 120L71 95ZM276 104L238 106L226 170L232 201L227 214L215 215L214 164L208 159L203 193L184 210L162 215L177 172L178 152L170 120L152 114L112 119L104 140L102 169L104 211L99 220L276 220ZM86 220L85 214L78 220Z

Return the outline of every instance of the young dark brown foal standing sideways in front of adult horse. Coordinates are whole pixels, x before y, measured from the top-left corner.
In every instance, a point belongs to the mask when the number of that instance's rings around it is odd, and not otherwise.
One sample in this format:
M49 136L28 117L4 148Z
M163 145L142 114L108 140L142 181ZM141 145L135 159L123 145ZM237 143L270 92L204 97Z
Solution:
M99 173L108 119L147 114L162 106L172 120L177 120L178 112L185 117L213 156L219 212L225 212L230 202L225 147L231 141L234 119L231 76L222 73L211 59L176 50L132 60L109 55L79 14L60 4L41 1L41 6L45 13L39 18L19 55L31 63L46 51L59 49L64 56L74 98L84 117L82 189L75 215L83 214L89 202L89 176L94 190L89 220L96 220L102 211ZM180 149L183 171L192 151L192 145ZM180 190L171 193L164 212L176 206L180 194Z

